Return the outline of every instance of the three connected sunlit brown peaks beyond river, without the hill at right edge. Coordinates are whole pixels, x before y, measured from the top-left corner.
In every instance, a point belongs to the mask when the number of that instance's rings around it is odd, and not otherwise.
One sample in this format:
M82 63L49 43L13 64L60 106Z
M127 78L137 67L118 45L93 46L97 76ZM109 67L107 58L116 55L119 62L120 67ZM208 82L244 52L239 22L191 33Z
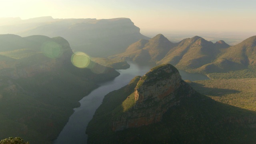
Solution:
M145 42L145 40L140 40L130 45L126 52L109 58L154 64L170 63L179 69L194 69L208 64L220 54L222 49L229 47L223 41L214 44L199 36L186 38L174 44L162 34L158 34L144 44L143 47L140 46L142 42Z

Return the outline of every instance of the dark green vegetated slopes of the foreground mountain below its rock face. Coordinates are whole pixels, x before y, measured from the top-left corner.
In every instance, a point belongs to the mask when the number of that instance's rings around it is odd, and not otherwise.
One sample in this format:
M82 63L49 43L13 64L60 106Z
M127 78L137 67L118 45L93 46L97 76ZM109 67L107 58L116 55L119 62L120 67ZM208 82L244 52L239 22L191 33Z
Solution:
M213 89L212 93L214 91L216 90ZM112 120L132 106L133 92L132 88L128 92L126 87L123 87L105 96L86 129L88 143L256 142L256 112L216 102L197 92L191 97L181 98L180 105L170 108L161 122L113 132ZM178 95L184 92L186 87L177 90Z

